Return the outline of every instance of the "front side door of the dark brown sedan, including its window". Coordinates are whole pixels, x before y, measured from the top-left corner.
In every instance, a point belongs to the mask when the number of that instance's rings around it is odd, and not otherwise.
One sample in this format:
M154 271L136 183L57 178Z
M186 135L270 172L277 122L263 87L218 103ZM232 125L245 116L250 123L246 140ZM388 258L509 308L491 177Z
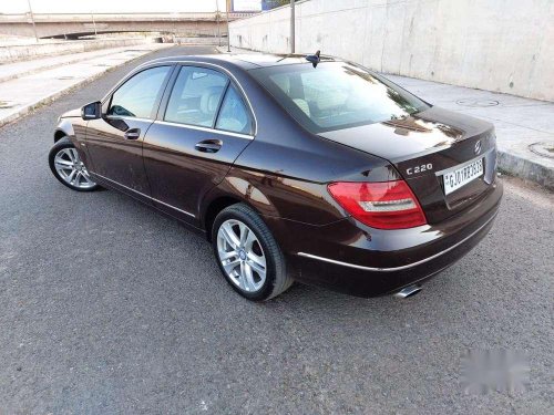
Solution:
M171 71L168 65L155 66L127 79L104 103L102 117L90 121L86 128L91 174L147 201L151 191L142 158L143 141Z

